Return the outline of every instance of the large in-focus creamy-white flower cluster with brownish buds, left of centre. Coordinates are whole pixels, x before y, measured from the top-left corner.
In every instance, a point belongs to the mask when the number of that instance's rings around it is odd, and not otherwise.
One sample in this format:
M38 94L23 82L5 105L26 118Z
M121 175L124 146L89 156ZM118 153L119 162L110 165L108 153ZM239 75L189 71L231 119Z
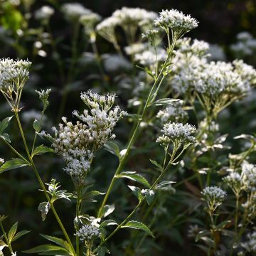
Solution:
M119 106L111 110L114 95L101 96L88 91L81 94L81 99L89 110L84 110L83 114L75 110L73 114L82 122L73 124L63 117L64 124L59 124L59 129L53 127L54 137L43 132L43 136L53 142L56 153L66 161L64 170L77 178L82 178L90 169L94 151L114 139L114 125L126 114Z

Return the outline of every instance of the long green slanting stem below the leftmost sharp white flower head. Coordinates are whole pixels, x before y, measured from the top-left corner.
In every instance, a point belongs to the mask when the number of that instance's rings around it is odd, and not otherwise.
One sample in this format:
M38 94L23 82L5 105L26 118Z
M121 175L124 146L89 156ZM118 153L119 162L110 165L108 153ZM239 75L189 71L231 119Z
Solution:
M38 174L38 170L36 169L36 166L35 166L35 164L33 163L33 159L31 158L31 155L29 154L28 145L27 145L27 143L26 143L26 139L25 139L25 136L24 136L24 133L23 133L23 129L22 129L22 127L21 127L21 122L20 122L20 119L19 119L19 117L18 117L18 112L15 111L14 113L15 113L15 116L16 116L16 119L17 119L17 122L18 122L18 127L19 127L20 132L21 132L21 137L22 137L22 139L23 139L23 144L24 144L24 146L25 146L26 153L27 153L27 155L28 155L28 159L29 159L29 161L30 161L30 163L31 163L31 167L32 167L32 169L33 169L33 171L34 171L34 173L35 173L35 175L36 175L36 178L38 179L38 182L39 182L40 185L41 185L41 188L43 189L43 193L45 194L45 196L46 196L46 198L47 198L47 201L50 203L50 208L52 209L53 214L55 215L55 218L56 218L58 224L60 225L61 230L63 231L63 235L65 235L65 238L67 239L68 243L70 244L70 247L71 247L71 249L73 250L73 254L75 255L75 249L74 249L73 244L72 244L72 242L71 242L71 240L70 240L70 238L69 238L69 236L68 236L68 233L67 233L67 231L65 230L65 228L64 228L64 226L63 226L63 223L61 222L61 220L60 220L60 218L59 218L59 216L58 216L58 213L56 212L55 207L53 206L53 203L52 203L52 201L50 200L50 197L48 196L48 193L47 193L47 191L46 191L46 186L44 185L44 183L43 183L43 181L42 181L42 179L41 179L41 176Z

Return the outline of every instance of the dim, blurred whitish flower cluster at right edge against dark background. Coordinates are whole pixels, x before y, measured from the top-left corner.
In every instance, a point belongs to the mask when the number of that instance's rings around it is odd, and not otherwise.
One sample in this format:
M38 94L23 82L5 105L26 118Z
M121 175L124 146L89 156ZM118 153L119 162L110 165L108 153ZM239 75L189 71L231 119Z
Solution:
M230 46L236 58L245 58L256 53L256 38L246 31L237 35L238 42Z

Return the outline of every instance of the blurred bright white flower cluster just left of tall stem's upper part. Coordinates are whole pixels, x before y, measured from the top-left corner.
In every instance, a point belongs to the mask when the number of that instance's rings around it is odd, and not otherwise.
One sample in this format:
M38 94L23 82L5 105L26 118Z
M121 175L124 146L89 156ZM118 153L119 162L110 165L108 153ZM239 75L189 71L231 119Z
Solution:
M142 53L137 53L134 56L135 61L145 66L157 65L158 62L163 62L166 58L166 50L162 48L157 48L156 52L153 49L144 50Z

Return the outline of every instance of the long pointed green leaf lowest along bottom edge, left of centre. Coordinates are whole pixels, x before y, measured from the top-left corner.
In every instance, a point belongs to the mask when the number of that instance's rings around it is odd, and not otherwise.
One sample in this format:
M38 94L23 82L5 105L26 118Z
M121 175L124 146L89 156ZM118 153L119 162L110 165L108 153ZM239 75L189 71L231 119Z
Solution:
M38 253L38 255L62 255L69 256L70 252L57 245L39 245L30 250L23 251L26 253Z

